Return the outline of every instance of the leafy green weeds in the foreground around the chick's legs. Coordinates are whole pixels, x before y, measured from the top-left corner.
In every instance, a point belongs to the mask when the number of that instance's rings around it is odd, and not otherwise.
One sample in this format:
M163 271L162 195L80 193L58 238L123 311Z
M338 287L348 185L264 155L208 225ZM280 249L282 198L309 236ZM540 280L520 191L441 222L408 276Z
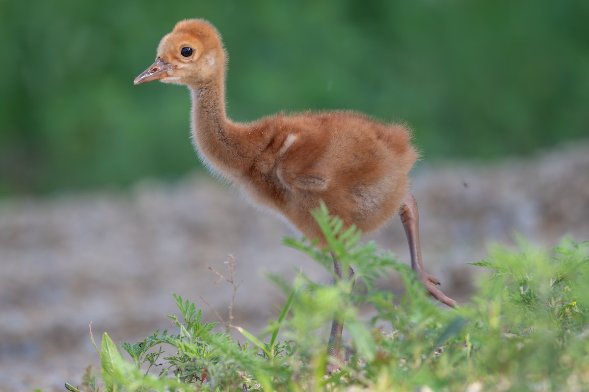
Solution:
M279 282L287 301L262 336L236 327L251 344L213 333L215 324L204 323L194 303L174 294L181 317L168 317L177 333L156 331L138 343L123 343L131 361L104 334L105 390L589 388L589 242L565 240L551 251L523 240L518 252L492 247L488 260L474 264L495 273L479 279L471 303L449 309L426 296L409 267L390 254L378 254L371 243L359 243L357 230L343 229L325 206L315 217L328 242L325 249L285 242L328 270L336 254L359 272L364 293L349 296L345 282L321 286L304 274L292 285ZM401 298L375 289L373 279L383 270L401 274L407 289ZM359 314L360 303L376 310L369 320ZM326 377L325 326L337 312L345 315L353 347L342 371ZM157 377L154 368L160 368ZM89 374L84 380L88 391L98 390Z

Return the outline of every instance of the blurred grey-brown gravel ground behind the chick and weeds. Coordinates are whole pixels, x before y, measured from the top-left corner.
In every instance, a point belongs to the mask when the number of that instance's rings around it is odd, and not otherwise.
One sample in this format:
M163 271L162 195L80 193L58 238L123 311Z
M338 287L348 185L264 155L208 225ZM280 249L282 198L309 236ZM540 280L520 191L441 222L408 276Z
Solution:
M577 143L530 159L495 165L421 165L413 173L426 269L442 289L468 300L469 266L490 242L513 244L514 233L556 246L563 236L589 239L589 145ZM84 368L98 367L88 324L100 339L137 341L171 323L171 292L202 307L199 294L224 317L231 287L216 284L205 263L226 271L237 260L234 324L259 332L277 317L282 294L264 272L292 279L303 269L316 281L329 274L280 244L292 233L201 176L174 185L144 181L127 192L0 201L0 391L64 391ZM379 246L409 260L398 219ZM402 292L399 279L382 282Z

